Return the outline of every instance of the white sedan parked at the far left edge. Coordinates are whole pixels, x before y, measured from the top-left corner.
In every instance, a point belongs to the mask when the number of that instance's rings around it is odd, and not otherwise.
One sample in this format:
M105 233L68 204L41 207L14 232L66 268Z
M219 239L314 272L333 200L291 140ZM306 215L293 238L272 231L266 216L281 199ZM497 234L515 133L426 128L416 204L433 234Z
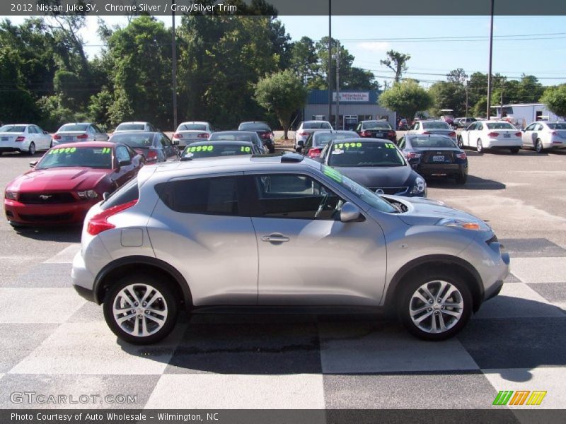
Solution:
M51 147L51 136L33 124L8 124L0 127L0 155L4 152L22 152L35 155Z

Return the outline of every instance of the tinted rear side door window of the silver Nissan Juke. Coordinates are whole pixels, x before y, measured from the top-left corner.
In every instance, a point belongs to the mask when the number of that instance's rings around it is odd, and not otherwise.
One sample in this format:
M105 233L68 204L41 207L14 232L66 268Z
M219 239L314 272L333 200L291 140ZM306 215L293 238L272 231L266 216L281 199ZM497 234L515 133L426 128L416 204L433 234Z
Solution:
M237 183L237 177L182 179L157 184L155 189L175 212L238 216Z

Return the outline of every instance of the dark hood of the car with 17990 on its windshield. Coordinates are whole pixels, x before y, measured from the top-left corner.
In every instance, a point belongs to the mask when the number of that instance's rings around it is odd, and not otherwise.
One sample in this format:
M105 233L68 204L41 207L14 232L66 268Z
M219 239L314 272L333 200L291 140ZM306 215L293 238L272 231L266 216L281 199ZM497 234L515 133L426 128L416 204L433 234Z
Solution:
M414 172L410 166L334 168L365 187L402 187Z

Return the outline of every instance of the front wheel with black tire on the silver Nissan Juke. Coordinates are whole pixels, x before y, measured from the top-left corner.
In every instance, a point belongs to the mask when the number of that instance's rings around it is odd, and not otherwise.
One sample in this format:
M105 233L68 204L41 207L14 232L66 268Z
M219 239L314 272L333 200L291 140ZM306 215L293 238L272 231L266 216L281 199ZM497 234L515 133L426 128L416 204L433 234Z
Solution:
M434 291L441 288L441 282L448 283L452 288L456 289L444 302L438 302L438 299L441 298L446 291L442 293ZM429 293L433 295L433 303L431 304L422 302L420 298L413 298L413 295L423 285L426 285L429 289ZM446 285L446 288L449 288L449 286ZM422 291L420 291L420 294L425 299L429 298ZM441 307L444 303L450 306ZM404 279L397 312L400 321L413 336L422 338L423 340L440 341L456 336L456 334L466 326L472 314L472 307L473 300L470 288L468 288L466 282L463 281L458 274L442 269L431 269L424 272L412 273ZM421 326L418 326L419 324L413 322L411 308L415 320L422 319L421 323L424 323L422 327L427 327L430 322L430 329L423 329ZM422 310L422 313L415 313L415 311L419 310ZM459 313L457 319L454 317L454 313ZM444 321L444 319L446 319L446 321ZM439 330L434 332L432 330L433 326L436 326L438 329L441 322L444 323L446 329L444 331Z

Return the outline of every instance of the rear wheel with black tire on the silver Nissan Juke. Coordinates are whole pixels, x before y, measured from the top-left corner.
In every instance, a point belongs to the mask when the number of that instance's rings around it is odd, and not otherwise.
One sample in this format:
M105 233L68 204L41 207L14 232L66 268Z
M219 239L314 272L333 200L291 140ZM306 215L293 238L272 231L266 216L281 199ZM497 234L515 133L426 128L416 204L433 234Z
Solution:
M115 304L119 306L125 305L123 303L125 296L123 295L124 292L122 292L122 290L127 288L127 286L132 286L130 288L130 293L134 290L134 295L138 297L136 300L143 300L144 293L149 290L149 295L147 297L149 300L153 301L151 301L149 305L140 305L139 302L136 303L132 301L132 296L129 296L129 304L131 306L127 305L126 308L123 308L125 312L120 313L123 314L122 318L126 318L128 316L131 317L129 319L125 319L120 324L116 321L117 318L115 318L113 307ZM154 292L154 290L158 293ZM156 298L152 299L154 296ZM153 305L156 305L156 307L151 308L150 306ZM145 308L149 308L149 310L146 310ZM117 281L117 283L115 283L115 285L112 286L112 288L110 288L110 291L105 297L103 310L106 324L108 324L112 332L118 338L126 341L127 343L147 345L157 343L171 333L175 323L177 322L178 301L175 300L175 296L173 295L171 288L169 288L166 283L163 283L163 281L160 281L157 277L152 275L133 274L131 276L121 278ZM164 321L163 324L159 327L154 319L146 318L148 315L150 318L153 317L161 319L161 321ZM164 320L163 317L165 317ZM139 326L143 329L144 323L146 329L153 331L151 333L148 331L149 334L146 336L139 334ZM132 332L136 329L136 325L138 328L138 335L132 334ZM156 329L156 327L158 328Z

